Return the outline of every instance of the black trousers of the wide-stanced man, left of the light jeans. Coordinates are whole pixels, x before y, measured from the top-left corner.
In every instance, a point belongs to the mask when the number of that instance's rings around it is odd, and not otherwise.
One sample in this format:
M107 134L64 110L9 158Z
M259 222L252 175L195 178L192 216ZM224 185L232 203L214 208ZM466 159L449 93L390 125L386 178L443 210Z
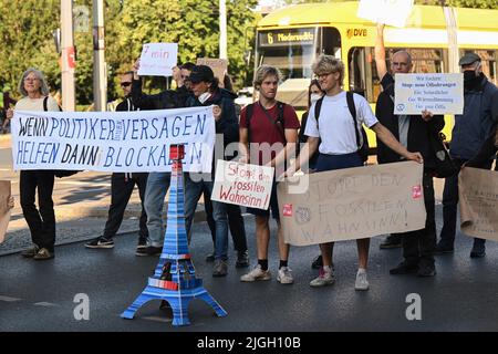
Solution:
M147 215L145 214L144 200L145 188L147 186L147 173L139 174L123 174L114 173L111 177L111 206L108 208L107 221L104 228L104 238L112 239L116 236L117 230L123 222L123 216L128 205L129 197L132 197L135 185L138 187L138 195L141 196L142 214L139 220L139 237L146 239L148 237L147 230Z

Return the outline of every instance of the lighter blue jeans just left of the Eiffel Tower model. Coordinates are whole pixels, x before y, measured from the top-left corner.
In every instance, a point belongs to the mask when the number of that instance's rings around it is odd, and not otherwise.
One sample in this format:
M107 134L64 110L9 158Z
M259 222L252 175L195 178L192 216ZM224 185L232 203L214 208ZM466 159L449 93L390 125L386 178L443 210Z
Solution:
M170 173L151 173L145 189L145 212L147 214L148 240L147 244L163 247L163 206L169 189Z

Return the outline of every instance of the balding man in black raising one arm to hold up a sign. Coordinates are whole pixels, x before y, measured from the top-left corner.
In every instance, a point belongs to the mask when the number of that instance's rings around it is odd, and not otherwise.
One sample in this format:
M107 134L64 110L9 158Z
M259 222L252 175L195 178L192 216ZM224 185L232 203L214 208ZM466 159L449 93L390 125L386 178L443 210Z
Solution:
M377 25L375 42L375 63L383 92L378 95L375 115L387 129L408 150L419 152L424 158L424 202L427 212L425 228L417 231L398 233L402 237L404 261L392 269L391 274L417 273L419 277L436 274L434 250L436 247L436 220L433 170L436 164L428 139L445 125L444 117L433 116L429 112L422 115L394 115L394 77L387 72L383 39L384 24ZM394 53L391 62L393 74L409 73L412 58L406 51ZM377 160L380 164L396 163L402 157L377 139Z

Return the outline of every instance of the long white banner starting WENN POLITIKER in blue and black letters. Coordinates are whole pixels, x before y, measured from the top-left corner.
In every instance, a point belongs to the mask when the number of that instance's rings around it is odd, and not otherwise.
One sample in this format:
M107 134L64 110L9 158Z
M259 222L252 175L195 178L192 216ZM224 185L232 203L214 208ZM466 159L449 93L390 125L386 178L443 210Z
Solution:
M14 169L170 171L169 145L185 145L184 170L210 173L212 106L136 112L21 112L12 118Z

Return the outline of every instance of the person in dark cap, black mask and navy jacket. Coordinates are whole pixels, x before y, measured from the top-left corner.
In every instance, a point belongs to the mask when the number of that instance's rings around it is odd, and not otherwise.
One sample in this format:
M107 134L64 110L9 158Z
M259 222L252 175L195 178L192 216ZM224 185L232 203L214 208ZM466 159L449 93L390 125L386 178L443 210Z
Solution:
M449 154L461 167L475 157L485 139L494 133L491 114L492 102L497 100L498 88L488 81L483 73L479 55L465 54L458 62L464 74L464 113L455 115L455 126L452 133ZM479 166L489 169L492 155L487 156ZM456 233L458 205L458 174L446 178L443 191L443 221L440 240L436 246L436 253L453 253ZM485 240L474 239L470 258L481 258L486 254Z

